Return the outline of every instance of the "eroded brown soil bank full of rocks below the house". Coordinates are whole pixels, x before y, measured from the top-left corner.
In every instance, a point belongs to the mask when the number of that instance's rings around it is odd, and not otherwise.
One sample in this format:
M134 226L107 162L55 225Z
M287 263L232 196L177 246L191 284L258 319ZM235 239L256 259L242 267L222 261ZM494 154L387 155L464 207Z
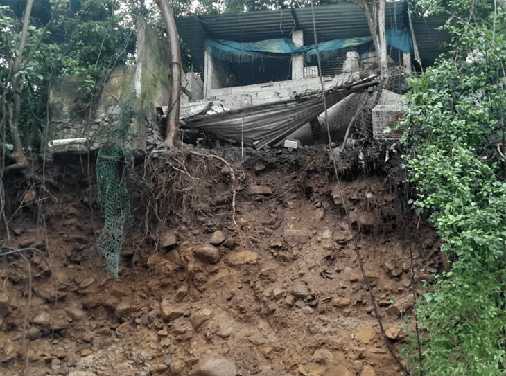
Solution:
M55 181L75 184L46 200L39 225L26 215L11 224L10 246L41 249L58 280L76 284L59 285L38 253L24 253L33 279L28 299L26 260L0 259L0 375L21 374L26 357L29 375L191 375L209 356L232 361L244 376L401 375L372 314L333 183L307 161L293 172L249 167L236 200L239 229L229 193L213 193L208 211L162 228L166 249L146 238L139 217L119 280L102 271L92 249L103 222L79 185L86 178L55 173ZM412 301L410 247L420 285L435 267L437 240L427 226L405 223L383 177L359 176L343 187L399 350L405 332L396 328ZM201 249L215 231L225 235L217 262L215 249Z

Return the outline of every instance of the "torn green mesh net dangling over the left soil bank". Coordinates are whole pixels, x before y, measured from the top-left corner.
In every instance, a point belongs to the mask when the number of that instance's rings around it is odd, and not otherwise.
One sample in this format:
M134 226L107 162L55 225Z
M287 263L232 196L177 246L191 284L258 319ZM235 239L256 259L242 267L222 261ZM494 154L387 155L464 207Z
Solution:
M118 276L119 260L128 220L130 195L126 184L130 152L127 147L131 104L121 106L115 129L106 134L106 142L98 148L96 181L98 204L105 212L105 223L94 247L105 258L105 271Z

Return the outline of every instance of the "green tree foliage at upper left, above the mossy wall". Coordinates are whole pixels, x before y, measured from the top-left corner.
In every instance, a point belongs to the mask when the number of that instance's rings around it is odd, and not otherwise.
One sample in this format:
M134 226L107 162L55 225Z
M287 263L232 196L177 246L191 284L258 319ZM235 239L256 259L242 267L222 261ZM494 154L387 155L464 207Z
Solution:
M0 0L0 80L7 89L25 7L26 1ZM91 95L102 69L124 64L134 48L133 26L124 19L116 0L35 1L18 73L25 145L37 147L42 136L53 77L82 75Z

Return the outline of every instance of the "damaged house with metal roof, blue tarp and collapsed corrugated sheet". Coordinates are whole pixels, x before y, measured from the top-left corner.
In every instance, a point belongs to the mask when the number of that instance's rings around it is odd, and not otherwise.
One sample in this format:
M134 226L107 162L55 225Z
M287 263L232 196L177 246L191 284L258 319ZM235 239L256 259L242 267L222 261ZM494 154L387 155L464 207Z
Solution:
M426 19L412 19L408 1L387 3L389 66L396 68L402 79L392 80L380 96L348 93L346 100L335 98L328 117L335 138L344 136L357 111L367 112L369 117L364 121L377 123L374 136L385 138L383 129L403 111L405 78L413 69L432 64L442 51L438 42L448 39L435 30L443 21L432 19L428 24ZM206 107L212 109L210 112L193 116L186 123L212 138L254 147L280 145L287 137L304 143L322 142L324 119L315 111L322 113L324 106L311 97L314 93L321 97L320 75L324 89L333 89L378 70L367 18L355 3L316 6L314 10L307 7L180 17L176 23L195 68L204 73L204 100L213 105ZM313 107L295 106L295 116L289 122L284 120L286 114L284 118L275 115L282 113L279 104L286 106L301 98L313 100ZM216 103L225 114L216 114Z

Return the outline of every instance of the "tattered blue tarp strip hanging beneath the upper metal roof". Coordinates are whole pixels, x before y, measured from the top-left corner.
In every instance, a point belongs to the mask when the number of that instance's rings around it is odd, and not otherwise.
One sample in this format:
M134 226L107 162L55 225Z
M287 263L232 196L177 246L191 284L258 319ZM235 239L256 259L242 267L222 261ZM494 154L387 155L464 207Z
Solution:
M403 52L411 53L413 50L412 39L407 29L386 30L387 45L397 48ZM338 51L342 48L359 46L360 44L372 44L372 37L358 37L346 39L334 39L329 42L318 44L321 53ZM316 45L297 47L291 39L268 39L260 42L241 43L224 39L207 39L206 48L211 48L211 55L220 60L246 62L265 55L286 56L286 55L315 55Z

